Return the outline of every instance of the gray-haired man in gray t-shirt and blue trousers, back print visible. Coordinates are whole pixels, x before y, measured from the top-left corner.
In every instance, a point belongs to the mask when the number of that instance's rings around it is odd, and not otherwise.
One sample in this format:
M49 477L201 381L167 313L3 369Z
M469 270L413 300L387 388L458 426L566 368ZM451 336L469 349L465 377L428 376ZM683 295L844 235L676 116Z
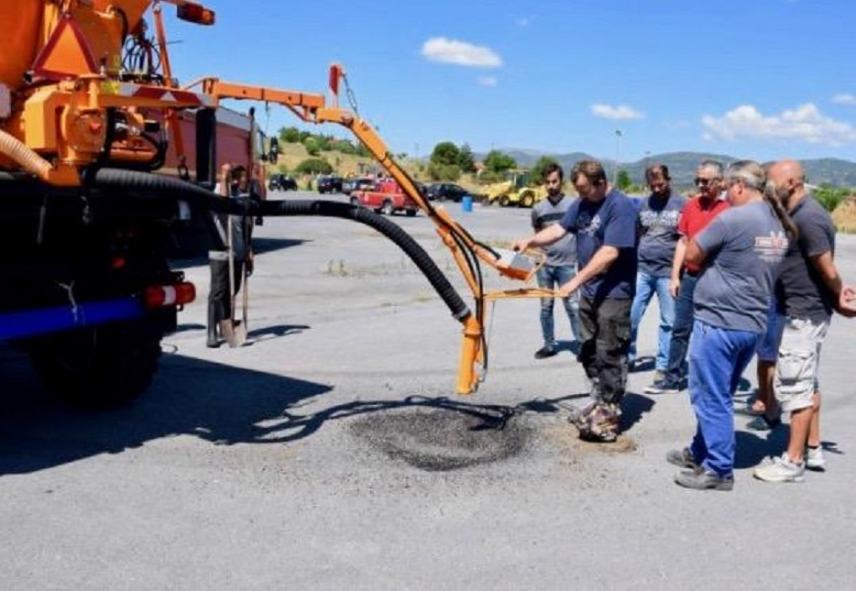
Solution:
M701 273L694 293L689 391L698 426L692 444L666 459L686 470L675 482L698 490L734 486L734 403L743 370L767 330L773 284L793 224L764 195L757 162L731 164L725 186L732 207L687 245L686 260Z

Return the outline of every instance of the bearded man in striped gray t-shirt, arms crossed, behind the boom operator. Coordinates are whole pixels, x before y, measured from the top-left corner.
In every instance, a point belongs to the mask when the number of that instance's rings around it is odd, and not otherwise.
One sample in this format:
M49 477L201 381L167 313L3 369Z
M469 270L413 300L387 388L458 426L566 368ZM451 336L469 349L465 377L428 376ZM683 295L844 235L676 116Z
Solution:
M540 232L547 226L559 223L573 203L573 199L562 193L564 173L558 164L550 165L544 171L544 184L547 198L532 208L532 227ZM568 232L565 236L544 247L547 260L538 270L538 285L554 289L570 281L577 272L576 237ZM563 298L562 303L571 323L571 333L575 343L580 342L579 303L577 295ZM553 326L553 298L541 298L541 333L544 346L535 352L535 359L552 357L558 352L555 329Z

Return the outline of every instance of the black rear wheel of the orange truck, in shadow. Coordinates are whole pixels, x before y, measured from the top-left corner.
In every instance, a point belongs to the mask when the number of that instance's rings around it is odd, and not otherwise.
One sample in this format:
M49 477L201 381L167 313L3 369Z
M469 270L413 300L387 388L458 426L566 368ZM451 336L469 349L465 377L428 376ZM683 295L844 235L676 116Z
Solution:
M130 402L151 384L161 334L145 320L52 335L30 351L45 386L76 406L104 408Z

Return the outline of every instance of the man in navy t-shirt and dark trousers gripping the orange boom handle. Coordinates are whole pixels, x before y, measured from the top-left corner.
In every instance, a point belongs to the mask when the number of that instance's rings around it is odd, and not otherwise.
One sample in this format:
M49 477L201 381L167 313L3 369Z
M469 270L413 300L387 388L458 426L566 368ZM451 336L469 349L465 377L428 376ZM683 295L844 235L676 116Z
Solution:
M561 222L518 240L514 249L546 246L568 233L576 235L579 271L558 292L569 297L580 290L582 345L578 359L592 381L594 400L572 420L583 438L615 441L627 381L637 212L629 197L609 186L599 162L577 162L570 177L580 199Z

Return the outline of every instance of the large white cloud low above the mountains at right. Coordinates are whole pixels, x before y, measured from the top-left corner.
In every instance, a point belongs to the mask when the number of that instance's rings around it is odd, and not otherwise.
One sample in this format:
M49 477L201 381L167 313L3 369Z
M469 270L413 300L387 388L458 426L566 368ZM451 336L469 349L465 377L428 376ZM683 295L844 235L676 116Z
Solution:
M740 105L721 117L705 115L701 123L712 137L726 140L802 140L830 146L856 142L856 128L844 121L826 117L812 103L777 115L764 115L754 105Z

